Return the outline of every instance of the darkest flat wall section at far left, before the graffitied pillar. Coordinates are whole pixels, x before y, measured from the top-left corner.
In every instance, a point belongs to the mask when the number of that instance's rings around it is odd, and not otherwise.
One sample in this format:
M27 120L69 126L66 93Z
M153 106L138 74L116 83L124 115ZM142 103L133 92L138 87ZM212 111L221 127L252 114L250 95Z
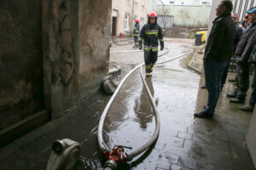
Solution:
M41 1L0 1L0 130L43 106Z

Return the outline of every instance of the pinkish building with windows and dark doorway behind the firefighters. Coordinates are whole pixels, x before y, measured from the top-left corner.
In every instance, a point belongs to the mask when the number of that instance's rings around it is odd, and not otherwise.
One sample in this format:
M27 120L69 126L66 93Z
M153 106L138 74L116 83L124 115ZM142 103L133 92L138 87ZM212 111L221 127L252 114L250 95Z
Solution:
M131 34L135 19L140 20L142 27L147 22L147 8L148 0L113 0L112 36Z

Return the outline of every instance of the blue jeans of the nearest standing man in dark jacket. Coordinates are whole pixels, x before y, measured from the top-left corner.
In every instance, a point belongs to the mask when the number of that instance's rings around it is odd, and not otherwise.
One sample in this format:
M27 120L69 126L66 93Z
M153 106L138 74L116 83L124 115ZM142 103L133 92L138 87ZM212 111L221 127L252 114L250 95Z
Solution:
M217 62L210 60L204 61L203 64L208 91L208 103L205 111L207 114L213 115L222 88L221 86L224 69L228 65L228 62Z

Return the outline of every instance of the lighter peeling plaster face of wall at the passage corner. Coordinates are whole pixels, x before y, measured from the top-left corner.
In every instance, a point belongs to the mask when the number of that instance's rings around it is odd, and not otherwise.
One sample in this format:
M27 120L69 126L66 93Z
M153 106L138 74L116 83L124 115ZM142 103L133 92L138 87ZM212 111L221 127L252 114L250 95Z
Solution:
M99 88L102 77L108 74L111 5L111 0L79 0L81 94Z

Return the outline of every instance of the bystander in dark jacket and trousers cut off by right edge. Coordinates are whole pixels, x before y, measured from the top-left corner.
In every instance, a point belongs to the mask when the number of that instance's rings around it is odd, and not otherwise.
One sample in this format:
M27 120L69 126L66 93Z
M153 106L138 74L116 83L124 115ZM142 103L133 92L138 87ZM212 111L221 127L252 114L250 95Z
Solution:
M256 43L256 8L247 10L250 26L247 27L247 31L242 35L241 41L236 48L236 63L239 66L239 88L236 98L230 99L232 103L245 103L247 96L247 90L249 88L249 67L247 62L250 54L253 51L253 46Z

